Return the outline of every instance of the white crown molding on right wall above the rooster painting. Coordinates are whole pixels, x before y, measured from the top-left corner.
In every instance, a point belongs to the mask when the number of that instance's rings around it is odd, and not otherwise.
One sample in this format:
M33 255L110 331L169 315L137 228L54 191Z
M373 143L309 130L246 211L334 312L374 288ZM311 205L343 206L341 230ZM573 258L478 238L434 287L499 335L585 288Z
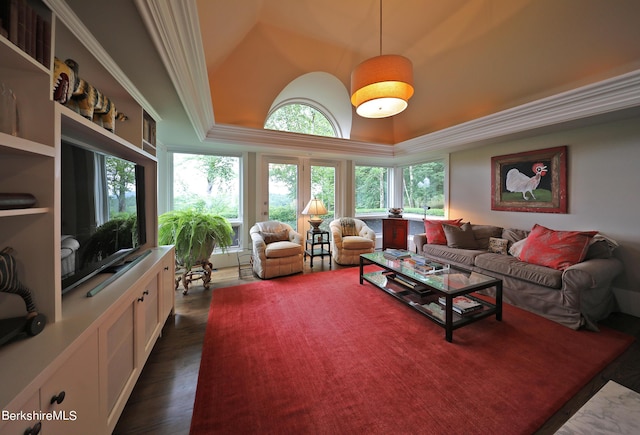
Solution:
M408 155L486 143L506 136L640 106L640 70L523 104L396 144Z

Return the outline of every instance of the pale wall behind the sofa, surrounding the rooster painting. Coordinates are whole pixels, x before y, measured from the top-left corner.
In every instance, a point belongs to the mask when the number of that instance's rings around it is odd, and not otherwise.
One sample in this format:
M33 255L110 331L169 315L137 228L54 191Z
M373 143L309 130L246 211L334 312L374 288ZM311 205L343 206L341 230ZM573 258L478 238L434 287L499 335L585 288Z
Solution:
M491 210L491 157L568 146L567 214ZM598 230L621 244L614 291L640 316L640 122L637 118L503 142L451 155L450 217L530 229Z

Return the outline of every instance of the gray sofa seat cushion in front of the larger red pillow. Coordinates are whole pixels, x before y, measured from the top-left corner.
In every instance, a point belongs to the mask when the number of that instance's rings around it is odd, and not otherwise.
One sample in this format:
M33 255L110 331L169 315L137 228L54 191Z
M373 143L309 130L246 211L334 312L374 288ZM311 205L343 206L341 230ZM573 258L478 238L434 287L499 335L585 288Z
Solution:
M545 287L562 288L562 271L526 263L510 255L493 253L478 255L475 257L475 266Z

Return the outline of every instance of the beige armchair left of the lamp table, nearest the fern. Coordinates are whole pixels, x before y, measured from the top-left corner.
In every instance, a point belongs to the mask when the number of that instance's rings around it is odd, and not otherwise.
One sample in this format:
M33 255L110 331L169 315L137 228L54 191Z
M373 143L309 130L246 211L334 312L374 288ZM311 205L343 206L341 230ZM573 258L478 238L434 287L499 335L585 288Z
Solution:
M258 222L249 230L253 244L253 271L259 278L302 272L302 236L278 221Z

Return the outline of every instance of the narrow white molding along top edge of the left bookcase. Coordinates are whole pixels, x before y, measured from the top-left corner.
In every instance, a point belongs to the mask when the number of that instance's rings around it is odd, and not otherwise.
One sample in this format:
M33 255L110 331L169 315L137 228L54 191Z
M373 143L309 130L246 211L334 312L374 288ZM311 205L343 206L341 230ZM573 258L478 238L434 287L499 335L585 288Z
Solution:
M98 62L113 76L114 79L131 95L131 97L144 108L144 110L156 121L162 117L156 112L151 104L144 98L142 93L129 80L129 77L120 69L118 64L107 54L106 50L96 38L89 32L87 27L80 21L78 16L67 5L64 0L43 0L47 7L55 14L56 19L62 22L71 33L84 45L87 50L96 58Z

